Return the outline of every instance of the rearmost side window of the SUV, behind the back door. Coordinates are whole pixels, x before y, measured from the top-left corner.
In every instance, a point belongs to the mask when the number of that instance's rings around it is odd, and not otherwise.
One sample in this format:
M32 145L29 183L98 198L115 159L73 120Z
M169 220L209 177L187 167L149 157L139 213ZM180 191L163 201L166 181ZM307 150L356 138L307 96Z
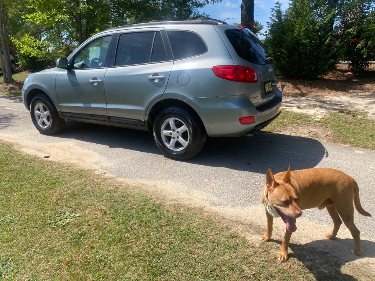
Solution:
M167 30L175 60L201 55L207 52L207 47L201 37L190 31Z

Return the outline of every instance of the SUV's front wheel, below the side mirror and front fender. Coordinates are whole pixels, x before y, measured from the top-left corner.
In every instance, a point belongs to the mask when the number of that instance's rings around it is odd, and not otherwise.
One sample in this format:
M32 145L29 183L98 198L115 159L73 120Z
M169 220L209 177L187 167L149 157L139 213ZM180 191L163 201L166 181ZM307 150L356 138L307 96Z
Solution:
M64 128L65 120L58 116L55 106L44 94L31 100L30 115L34 126L43 135L53 135Z

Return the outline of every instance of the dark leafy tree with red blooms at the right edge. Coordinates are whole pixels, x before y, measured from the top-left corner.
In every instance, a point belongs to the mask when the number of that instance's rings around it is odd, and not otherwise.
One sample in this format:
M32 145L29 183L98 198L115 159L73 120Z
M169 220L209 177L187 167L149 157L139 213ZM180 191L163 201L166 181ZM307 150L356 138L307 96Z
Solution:
M375 6L373 1L343 0L338 7L338 44L348 68L359 75L375 54Z

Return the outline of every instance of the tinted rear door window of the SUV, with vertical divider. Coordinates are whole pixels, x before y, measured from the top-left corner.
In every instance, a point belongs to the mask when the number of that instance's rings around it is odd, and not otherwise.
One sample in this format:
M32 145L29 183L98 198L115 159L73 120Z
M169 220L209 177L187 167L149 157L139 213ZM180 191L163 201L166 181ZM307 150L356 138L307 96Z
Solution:
M115 66L155 63L166 60L159 31L124 33L118 40Z

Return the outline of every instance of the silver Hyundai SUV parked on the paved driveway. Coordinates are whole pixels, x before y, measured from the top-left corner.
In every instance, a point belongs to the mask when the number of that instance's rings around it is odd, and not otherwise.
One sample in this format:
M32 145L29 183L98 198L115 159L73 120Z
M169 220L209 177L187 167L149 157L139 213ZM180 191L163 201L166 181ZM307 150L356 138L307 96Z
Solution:
M102 31L57 67L29 75L24 104L40 133L65 120L153 132L167 157L189 159L207 135L242 136L281 112L272 58L246 28L214 19Z

